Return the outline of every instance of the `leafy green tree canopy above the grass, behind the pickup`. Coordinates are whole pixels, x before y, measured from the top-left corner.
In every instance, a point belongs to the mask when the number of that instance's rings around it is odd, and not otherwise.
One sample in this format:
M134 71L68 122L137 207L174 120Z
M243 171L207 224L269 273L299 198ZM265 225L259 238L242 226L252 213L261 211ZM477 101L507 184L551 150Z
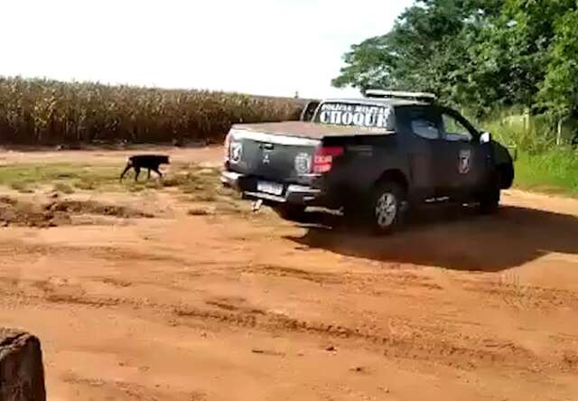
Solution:
M419 89L478 114L576 110L576 0L418 0L353 45L337 87Z

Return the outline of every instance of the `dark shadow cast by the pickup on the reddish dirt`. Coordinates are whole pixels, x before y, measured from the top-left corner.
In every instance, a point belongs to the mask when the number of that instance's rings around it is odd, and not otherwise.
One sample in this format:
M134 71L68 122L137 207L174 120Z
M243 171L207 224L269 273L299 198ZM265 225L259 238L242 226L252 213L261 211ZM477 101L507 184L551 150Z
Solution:
M303 237L306 247L383 262L498 272L552 252L578 254L578 218L545 210L505 206L494 216L474 210L422 210L406 228L376 237L339 216L314 213Z

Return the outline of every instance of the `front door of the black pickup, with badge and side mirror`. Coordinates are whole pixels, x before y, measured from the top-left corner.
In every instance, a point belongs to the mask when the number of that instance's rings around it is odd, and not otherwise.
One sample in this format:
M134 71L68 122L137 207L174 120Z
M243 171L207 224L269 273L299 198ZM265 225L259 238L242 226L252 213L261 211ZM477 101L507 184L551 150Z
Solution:
M480 143L480 134L460 114L441 109L443 163L450 196L469 195L483 188L491 173L491 145Z

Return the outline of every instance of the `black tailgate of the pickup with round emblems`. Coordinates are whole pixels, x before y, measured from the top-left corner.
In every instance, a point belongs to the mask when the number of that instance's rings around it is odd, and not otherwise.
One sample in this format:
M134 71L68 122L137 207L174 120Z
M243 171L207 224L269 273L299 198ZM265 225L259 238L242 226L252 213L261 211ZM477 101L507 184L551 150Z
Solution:
M306 183L315 148L321 140L232 129L229 170L275 182Z

